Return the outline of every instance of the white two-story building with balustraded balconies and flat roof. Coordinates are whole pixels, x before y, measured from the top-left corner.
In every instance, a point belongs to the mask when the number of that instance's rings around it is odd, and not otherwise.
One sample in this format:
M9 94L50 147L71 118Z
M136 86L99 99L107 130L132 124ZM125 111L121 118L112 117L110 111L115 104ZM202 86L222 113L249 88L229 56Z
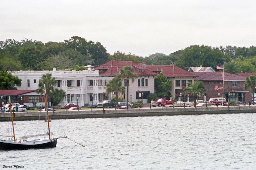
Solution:
M63 102L60 103L61 105L67 102L74 104L78 102L79 106L84 106L86 103L91 105L111 99L111 95L106 93L106 85L113 77L99 77L98 70L92 71L89 68L83 71L57 71L56 68L53 68L53 71L21 70L11 72L13 76L18 76L21 79L21 85L17 86L18 90L36 90L40 78L46 73L51 73L57 81L55 88L63 89L67 94Z

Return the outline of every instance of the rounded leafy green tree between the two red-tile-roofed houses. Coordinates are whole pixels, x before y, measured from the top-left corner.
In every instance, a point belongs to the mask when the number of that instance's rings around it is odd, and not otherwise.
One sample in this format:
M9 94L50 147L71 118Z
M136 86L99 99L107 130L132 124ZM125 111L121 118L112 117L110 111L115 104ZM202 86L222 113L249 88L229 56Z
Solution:
M155 77L155 93L158 97L168 96L168 91L172 87L172 81L167 79L163 73Z

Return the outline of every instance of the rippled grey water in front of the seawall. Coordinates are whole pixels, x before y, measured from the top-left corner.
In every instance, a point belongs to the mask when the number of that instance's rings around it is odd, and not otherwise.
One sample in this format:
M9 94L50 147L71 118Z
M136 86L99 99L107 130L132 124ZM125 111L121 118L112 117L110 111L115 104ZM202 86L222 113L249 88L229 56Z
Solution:
M52 120L56 148L0 151L0 167L22 169L255 169L256 114ZM2 135L10 123L0 122ZM44 132L19 121L16 136ZM11 169L11 168L6 168Z

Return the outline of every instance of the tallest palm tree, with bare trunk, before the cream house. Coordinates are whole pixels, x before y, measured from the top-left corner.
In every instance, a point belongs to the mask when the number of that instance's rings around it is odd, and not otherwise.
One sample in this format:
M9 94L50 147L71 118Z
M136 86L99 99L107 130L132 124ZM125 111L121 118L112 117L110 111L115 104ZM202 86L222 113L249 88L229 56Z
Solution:
M126 80L126 99L127 99L127 109L129 105L129 82L130 79L132 80L132 83L134 82L134 79L137 78L138 75L133 73L133 68L130 66L125 66L123 69L120 69L118 78L121 78L121 81ZM131 103L132 104L132 103Z

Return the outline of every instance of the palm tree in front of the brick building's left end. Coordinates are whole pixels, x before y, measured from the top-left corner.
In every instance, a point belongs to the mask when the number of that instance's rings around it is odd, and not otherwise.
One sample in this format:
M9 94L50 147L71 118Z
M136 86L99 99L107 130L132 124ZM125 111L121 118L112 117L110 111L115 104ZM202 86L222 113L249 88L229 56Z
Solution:
M194 107L196 107L197 96L204 97L204 83L202 81L194 81L194 84L189 82L188 87L183 90L185 90L185 95L188 93L193 95Z

